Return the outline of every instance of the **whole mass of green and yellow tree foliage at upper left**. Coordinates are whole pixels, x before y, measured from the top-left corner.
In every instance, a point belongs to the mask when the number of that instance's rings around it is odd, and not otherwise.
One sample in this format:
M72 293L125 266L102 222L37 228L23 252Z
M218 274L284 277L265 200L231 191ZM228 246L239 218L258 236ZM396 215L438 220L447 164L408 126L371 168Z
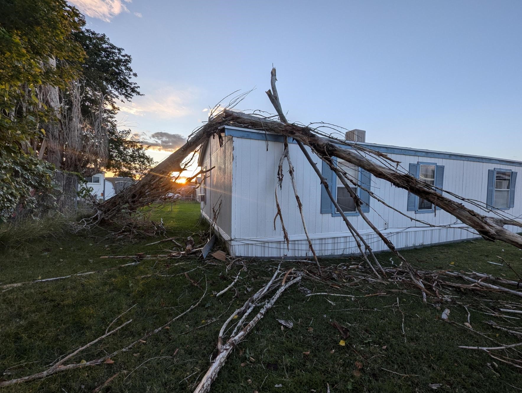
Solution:
M128 130L118 129L116 122L117 101L141 95L133 80L137 75L131 67L132 57L105 34L84 26L84 16L64 0L2 3L3 219L52 188L55 165L84 175L106 169L136 177L153 163L146 154L147 146L130 138ZM75 111L75 105L80 111ZM68 135L72 130L76 130L76 145ZM76 159L67 159L68 150L69 157ZM100 151L106 151L105 157L88 157Z

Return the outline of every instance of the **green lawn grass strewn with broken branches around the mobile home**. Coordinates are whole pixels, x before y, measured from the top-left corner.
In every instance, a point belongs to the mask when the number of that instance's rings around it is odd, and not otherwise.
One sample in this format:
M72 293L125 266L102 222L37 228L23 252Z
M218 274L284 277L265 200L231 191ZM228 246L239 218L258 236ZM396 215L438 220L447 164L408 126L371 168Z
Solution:
M168 236L188 236L206 229L203 224L197 225L197 204L181 203L169 209L155 212L169 228ZM99 257L144 251L162 253L167 247L164 243L145 247L149 242L107 244L94 235L37 239L4 251L0 285L116 266L127 261ZM404 255L421 268L479 270L514 278L509 269L487 261L500 261L496 258L500 255L519 268L522 252L507 244L480 240L408 250ZM385 266L390 266L391 255L379 254L378 257ZM340 263L339 260L323 261L323 265L329 262ZM250 296L248 289L257 290L267 281L276 265L269 261L247 261L247 271L241 273L243 279L236 284L236 291L230 290L219 298L212 293L227 287L239 267L227 272L221 261L209 264L197 258L145 260L136 266L105 273L34 283L0 292L3 311L0 313L0 378L4 379L43 371L58 356L103 335L111 321L134 304L136 306L118 320L122 324L133 319L132 323L81 352L73 361L100 358L163 325L203 294L185 278L185 271L195 269L188 275L203 288L206 280L209 293L198 307L175 321L170 329L117 355L113 364L79 368L4 390L91 392L120 373L103 391L193 391L209 366L209 356L215 350L224 319ZM293 264L284 263L286 269L291 266ZM164 274L182 274L140 278L165 269L168 273ZM311 280L303 280L301 286L313 292L335 291ZM314 389L326 392L327 383L332 393L433 391L430 384L442 384L437 391L443 392L519 391L516 387L521 387L522 378L514 367L499 362L495 366L486 353L457 348L492 342L442 321L441 311L422 304L420 293L402 290L404 288L397 285L353 284L349 292L344 293L363 296L383 292L385 295L357 297L352 301L347 297L305 297L294 285L234 350L211 391L257 390L262 393L310 392ZM485 299L501 295L462 292L458 296L461 297L455 299L469 306L474 329L502 343L516 342L485 325L484 320L495 318L479 313L476 306L478 299L486 302ZM394 306L397 299L400 307ZM442 307L450 309L451 320L460 324L467 320L463 306L448 303ZM220 315L217 321L206 325ZM276 319L292 320L294 327L281 330ZM340 333L329 324L334 320L349 329L345 346L339 345ZM114 326L118 326L118 322ZM520 326L517 319L511 322ZM305 353L309 351L310 354ZM7 368L22 363L27 364L2 376ZM282 388L276 388L278 384Z

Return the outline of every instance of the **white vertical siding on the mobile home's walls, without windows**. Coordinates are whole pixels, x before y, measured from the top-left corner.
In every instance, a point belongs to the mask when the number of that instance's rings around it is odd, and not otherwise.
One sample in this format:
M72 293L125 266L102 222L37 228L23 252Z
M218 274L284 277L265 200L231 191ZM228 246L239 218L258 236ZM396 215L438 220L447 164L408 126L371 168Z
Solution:
M283 166L284 178L282 189L278 189L279 203L281 205L284 225L290 235L291 244L288 250L282 239L282 230L279 218L276 220L274 230L274 217L276 215L276 203L274 191L277 183L277 169L281 157L283 145L281 142L264 141L256 139L233 138L233 153L223 146L222 153L215 150L215 141L211 142L207 154L209 154L207 166L217 165L219 160L227 161L223 164L221 172L212 177L211 193L223 196L227 190L232 193L231 206L225 209L221 207L221 216L230 214L231 221L227 222L222 217L220 227L231 237L231 252L242 256L280 257L306 256L310 252L305 240L299 210L295 202L293 190L288 174L288 164ZM228 144L227 144L228 145ZM219 146L219 145L218 145ZM268 149L267 149L268 146ZM230 143L230 148L232 143ZM308 148L307 148L308 149ZM310 149L309 149L310 151ZM216 152L215 155L212 155ZM228 163L232 160L233 170ZM311 153L314 161L321 168L321 160ZM499 166L502 168L520 171L519 166L506 166L484 162L465 161L457 159L437 159L405 154L388 154L391 158L401 162L400 166L407 171L410 162L436 162L445 165L444 189L469 199L483 201L485 203L487 193L488 169ZM299 196L303 203L306 225L313 237L314 248L318 255L342 255L358 252L352 237L347 232L346 225L341 217L333 217L331 214L321 214L321 185L307 162L299 147L290 144L290 157L295 169L295 178ZM207 162L207 161L206 161ZM214 171L212 171L214 172ZM232 173L233 172L233 173ZM233 178L233 183L226 176ZM520 176L519 176L520 179ZM217 184L217 182L220 182ZM516 188L515 208L507 213L520 217L522 215L521 181ZM445 212L436 210L435 213L418 213L407 211L407 195L404 189L392 186L390 183L372 176L372 191L408 216L426 221L434 225L459 224L460 222ZM216 195L211 194L210 203L215 203ZM447 194L446 194L447 196ZM224 203L224 197L223 197ZM204 208L208 211L209 202ZM478 210L470 203L465 206ZM205 210L206 209L206 210ZM485 214L484 211L481 213ZM211 211L207 213L211 217ZM490 213L492 215L493 213ZM469 239L476 237L461 228L424 228L425 224L412 221L410 218L371 199L370 212L367 213L370 220L382 229L390 240L398 248L411 247L424 244L441 243ZM367 238L372 248L384 249L383 242L370 231L368 225L359 216L348 217L355 228ZM220 221L221 222L221 221ZM387 229L386 229L387 228Z

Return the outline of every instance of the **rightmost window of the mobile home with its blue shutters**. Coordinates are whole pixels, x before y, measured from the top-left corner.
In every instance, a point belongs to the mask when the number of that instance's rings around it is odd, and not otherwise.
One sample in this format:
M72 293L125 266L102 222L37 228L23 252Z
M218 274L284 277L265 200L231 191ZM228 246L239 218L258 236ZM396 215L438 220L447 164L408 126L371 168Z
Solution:
M507 210L515 207L517 173L495 168L488 171L486 204L490 209Z

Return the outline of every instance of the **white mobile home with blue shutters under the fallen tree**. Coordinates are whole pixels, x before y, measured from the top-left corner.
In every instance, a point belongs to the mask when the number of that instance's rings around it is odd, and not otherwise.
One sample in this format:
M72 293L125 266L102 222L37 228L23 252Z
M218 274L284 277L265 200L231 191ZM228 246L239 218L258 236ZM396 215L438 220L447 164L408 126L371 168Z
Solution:
M201 149L199 165L209 172L200 188L201 213L226 242L232 256L266 258L303 258L311 252L303 231L300 213L291 188L288 164L284 163L282 190L278 191L284 225L290 238L287 248L276 215L275 189L282 137L265 132L224 126L221 134L210 137ZM352 134L363 135L359 130ZM291 140L291 139L290 139ZM355 143L355 142L352 142ZM358 141L357 144L386 153L400 161L400 167L422 180L470 200L481 201L492 209L510 216L522 216L522 192L516 185L522 162L471 156L469 154L419 150ZM309 150L321 168L321 159ZM318 256L341 256L359 252L345 223L328 198L312 166L295 143L290 143L290 157L295 169L306 226ZM374 158L370 158L373 159ZM455 242L478 237L478 234L444 210L428 201L371 176L368 172L338 161L359 185L371 189L390 206L406 215L433 225L413 221L370 195L354 187L366 203L367 217L397 248ZM399 169L400 169L399 167ZM387 249L381 239L354 210L353 200L336 175L323 165L323 175L331 184L334 197L343 207L354 227L365 236L374 251ZM445 196L449 196L444 193ZM478 210L470 203L466 207ZM481 211L488 215L487 212ZM493 215L490 212L489 215ZM275 222L275 223L274 223ZM506 227L517 231L515 227Z

